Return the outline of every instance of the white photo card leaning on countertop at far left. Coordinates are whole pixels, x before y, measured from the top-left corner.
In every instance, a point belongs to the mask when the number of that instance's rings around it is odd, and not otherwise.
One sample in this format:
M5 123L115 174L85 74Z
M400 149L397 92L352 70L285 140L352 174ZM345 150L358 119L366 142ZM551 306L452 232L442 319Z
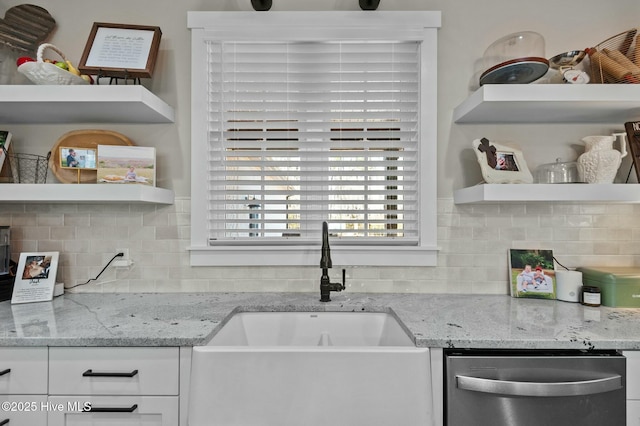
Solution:
M59 252L21 253L11 303L53 299Z

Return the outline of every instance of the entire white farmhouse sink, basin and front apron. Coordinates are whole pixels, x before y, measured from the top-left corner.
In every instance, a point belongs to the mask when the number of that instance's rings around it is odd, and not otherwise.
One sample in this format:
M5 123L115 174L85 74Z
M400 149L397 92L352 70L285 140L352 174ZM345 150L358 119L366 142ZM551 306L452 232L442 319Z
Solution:
M239 312L192 352L189 426L432 425L430 357L392 313Z

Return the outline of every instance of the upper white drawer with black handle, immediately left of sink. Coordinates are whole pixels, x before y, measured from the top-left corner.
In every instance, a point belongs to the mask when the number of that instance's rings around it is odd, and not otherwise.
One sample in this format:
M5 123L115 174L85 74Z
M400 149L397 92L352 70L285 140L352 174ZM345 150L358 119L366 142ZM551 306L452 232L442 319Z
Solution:
M50 395L178 395L178 348L49 348Z

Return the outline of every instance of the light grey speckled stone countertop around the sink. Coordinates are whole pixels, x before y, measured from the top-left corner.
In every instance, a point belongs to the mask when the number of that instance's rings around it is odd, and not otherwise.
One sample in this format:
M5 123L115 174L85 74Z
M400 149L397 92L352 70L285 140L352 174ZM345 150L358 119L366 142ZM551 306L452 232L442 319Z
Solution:
M234 310L393 311L421 347L640 349L640 309L492 295L65 294L0 302L0 346L197 346Z

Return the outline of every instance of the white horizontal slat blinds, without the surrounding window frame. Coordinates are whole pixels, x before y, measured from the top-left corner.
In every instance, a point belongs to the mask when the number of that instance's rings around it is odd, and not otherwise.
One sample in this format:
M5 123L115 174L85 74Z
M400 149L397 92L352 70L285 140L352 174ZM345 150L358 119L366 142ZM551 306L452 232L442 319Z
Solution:
M417 42L209 51L211 240L417 241Z

